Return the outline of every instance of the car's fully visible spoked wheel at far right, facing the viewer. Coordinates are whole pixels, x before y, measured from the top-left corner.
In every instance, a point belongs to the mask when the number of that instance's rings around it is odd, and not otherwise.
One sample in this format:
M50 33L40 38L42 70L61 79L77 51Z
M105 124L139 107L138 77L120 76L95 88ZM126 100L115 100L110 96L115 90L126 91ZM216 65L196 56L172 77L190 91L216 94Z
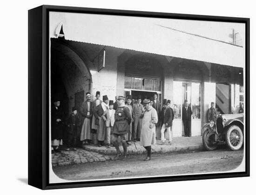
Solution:
M243 145L243 132L240 127L230 126L226 133L226 140L231 150L239 150Z

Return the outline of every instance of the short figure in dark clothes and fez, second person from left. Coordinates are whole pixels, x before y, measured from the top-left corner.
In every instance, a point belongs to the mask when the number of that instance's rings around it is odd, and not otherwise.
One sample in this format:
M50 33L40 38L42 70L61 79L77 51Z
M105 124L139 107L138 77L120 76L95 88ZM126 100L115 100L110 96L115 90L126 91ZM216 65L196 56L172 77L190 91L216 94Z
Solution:
M67 149L69 151L70 147L73 147L73 150L77 150L76 147L76 138L80 136L79 129L81 126L81 116L77 114L78 109L76 107L72 108L72 113L67 118Z

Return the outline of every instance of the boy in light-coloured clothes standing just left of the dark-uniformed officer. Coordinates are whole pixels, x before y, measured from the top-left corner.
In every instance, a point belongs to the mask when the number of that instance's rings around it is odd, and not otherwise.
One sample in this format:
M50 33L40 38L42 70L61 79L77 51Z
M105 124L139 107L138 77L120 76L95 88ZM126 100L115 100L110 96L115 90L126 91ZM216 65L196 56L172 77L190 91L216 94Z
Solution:
M109 100L109 109L107 110L107 120L106 120L106 127L107 127L107 147L110 148L110 136L111 131L115 123L115 110L113 100Z

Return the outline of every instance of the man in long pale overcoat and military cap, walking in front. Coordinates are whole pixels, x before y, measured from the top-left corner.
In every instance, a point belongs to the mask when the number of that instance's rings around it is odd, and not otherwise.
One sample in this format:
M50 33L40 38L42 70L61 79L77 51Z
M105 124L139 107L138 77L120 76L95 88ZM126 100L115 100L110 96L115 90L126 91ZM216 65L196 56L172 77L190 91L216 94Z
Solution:
M144 161L151 159L151 144L154 144L155 124L158 121L156 110L150 105L149 99L143 100L145 112L141 126L141 145L147 150L147 157Z

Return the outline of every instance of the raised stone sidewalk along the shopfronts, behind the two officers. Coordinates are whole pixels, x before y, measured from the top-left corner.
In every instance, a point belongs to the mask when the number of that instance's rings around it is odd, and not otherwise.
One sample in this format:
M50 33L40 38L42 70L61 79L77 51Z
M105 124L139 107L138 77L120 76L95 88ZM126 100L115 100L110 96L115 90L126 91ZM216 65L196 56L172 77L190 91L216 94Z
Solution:
M156 144L152 145L152 154L165 154L172 152L186 152L203 150L202 136L195 137L175 137L173 138L172 145L159 145L161 140L156 140ZM140 145L140 142L136 142L128 146L127 155L129 157L145 155L146 150ZM123 152L120 144L120 150ZM65 151L52 154L52 166L65 166L80 163L94 163L113 160L116 155L115 147L107 148L106 146L84 145L83 148L79 148L77 151Z

